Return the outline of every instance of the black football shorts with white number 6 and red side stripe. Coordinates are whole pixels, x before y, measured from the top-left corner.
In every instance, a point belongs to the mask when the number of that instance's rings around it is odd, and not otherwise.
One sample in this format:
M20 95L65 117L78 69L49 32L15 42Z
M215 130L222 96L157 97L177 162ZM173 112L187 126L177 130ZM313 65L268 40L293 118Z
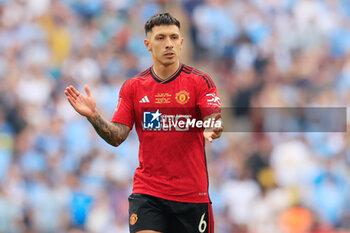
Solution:
M163 233L214 233L210 203L169 201L145 194L129 196L131 233L153 230Z

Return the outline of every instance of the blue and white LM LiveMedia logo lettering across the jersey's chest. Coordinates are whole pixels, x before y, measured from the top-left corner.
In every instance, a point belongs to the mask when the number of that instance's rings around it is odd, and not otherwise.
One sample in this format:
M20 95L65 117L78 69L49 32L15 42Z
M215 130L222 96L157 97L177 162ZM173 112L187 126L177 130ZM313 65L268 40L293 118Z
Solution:
M220 128L221 121L215 121L209 118L206 121L192 118L192 115L186 114L162 114L159 109L157 111L143 112L144 130L149 131L189 131L190 129L200 128Z

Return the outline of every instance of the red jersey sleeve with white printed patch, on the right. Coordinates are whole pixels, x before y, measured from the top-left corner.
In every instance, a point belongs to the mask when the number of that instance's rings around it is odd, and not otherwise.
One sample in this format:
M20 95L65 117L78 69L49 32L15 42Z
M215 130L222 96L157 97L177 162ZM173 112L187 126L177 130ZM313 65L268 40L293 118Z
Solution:
M221 100L216 90L216 86L209 75L204 75L198 85L199 94L197 106L200 109L201 117L204 118L213 113L221 112Z

